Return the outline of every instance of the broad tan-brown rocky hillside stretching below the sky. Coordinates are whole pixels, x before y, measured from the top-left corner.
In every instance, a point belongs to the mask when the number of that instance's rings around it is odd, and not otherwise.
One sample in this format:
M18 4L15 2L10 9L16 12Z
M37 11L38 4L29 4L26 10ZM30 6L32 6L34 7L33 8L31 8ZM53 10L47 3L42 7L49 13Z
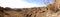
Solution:
M4 10L4 17L60 17L60 9L49 5L47 7Z

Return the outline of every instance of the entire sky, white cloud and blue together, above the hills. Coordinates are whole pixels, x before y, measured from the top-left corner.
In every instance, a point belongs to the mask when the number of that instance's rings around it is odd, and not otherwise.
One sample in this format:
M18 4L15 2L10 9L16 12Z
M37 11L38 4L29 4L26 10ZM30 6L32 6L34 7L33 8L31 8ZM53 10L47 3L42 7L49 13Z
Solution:
M53 3L53 0L49 0ZM0 0L0 6L11 8L31 8L45 6L42 0Z

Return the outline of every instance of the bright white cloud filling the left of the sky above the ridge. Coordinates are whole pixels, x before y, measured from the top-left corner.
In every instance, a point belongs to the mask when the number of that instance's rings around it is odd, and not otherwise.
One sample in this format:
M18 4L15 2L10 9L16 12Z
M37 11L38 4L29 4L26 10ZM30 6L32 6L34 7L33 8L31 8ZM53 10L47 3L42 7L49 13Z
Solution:
M0 0L0 6L11 8L30 8L38 7L39 5L23 2L22 0Z

